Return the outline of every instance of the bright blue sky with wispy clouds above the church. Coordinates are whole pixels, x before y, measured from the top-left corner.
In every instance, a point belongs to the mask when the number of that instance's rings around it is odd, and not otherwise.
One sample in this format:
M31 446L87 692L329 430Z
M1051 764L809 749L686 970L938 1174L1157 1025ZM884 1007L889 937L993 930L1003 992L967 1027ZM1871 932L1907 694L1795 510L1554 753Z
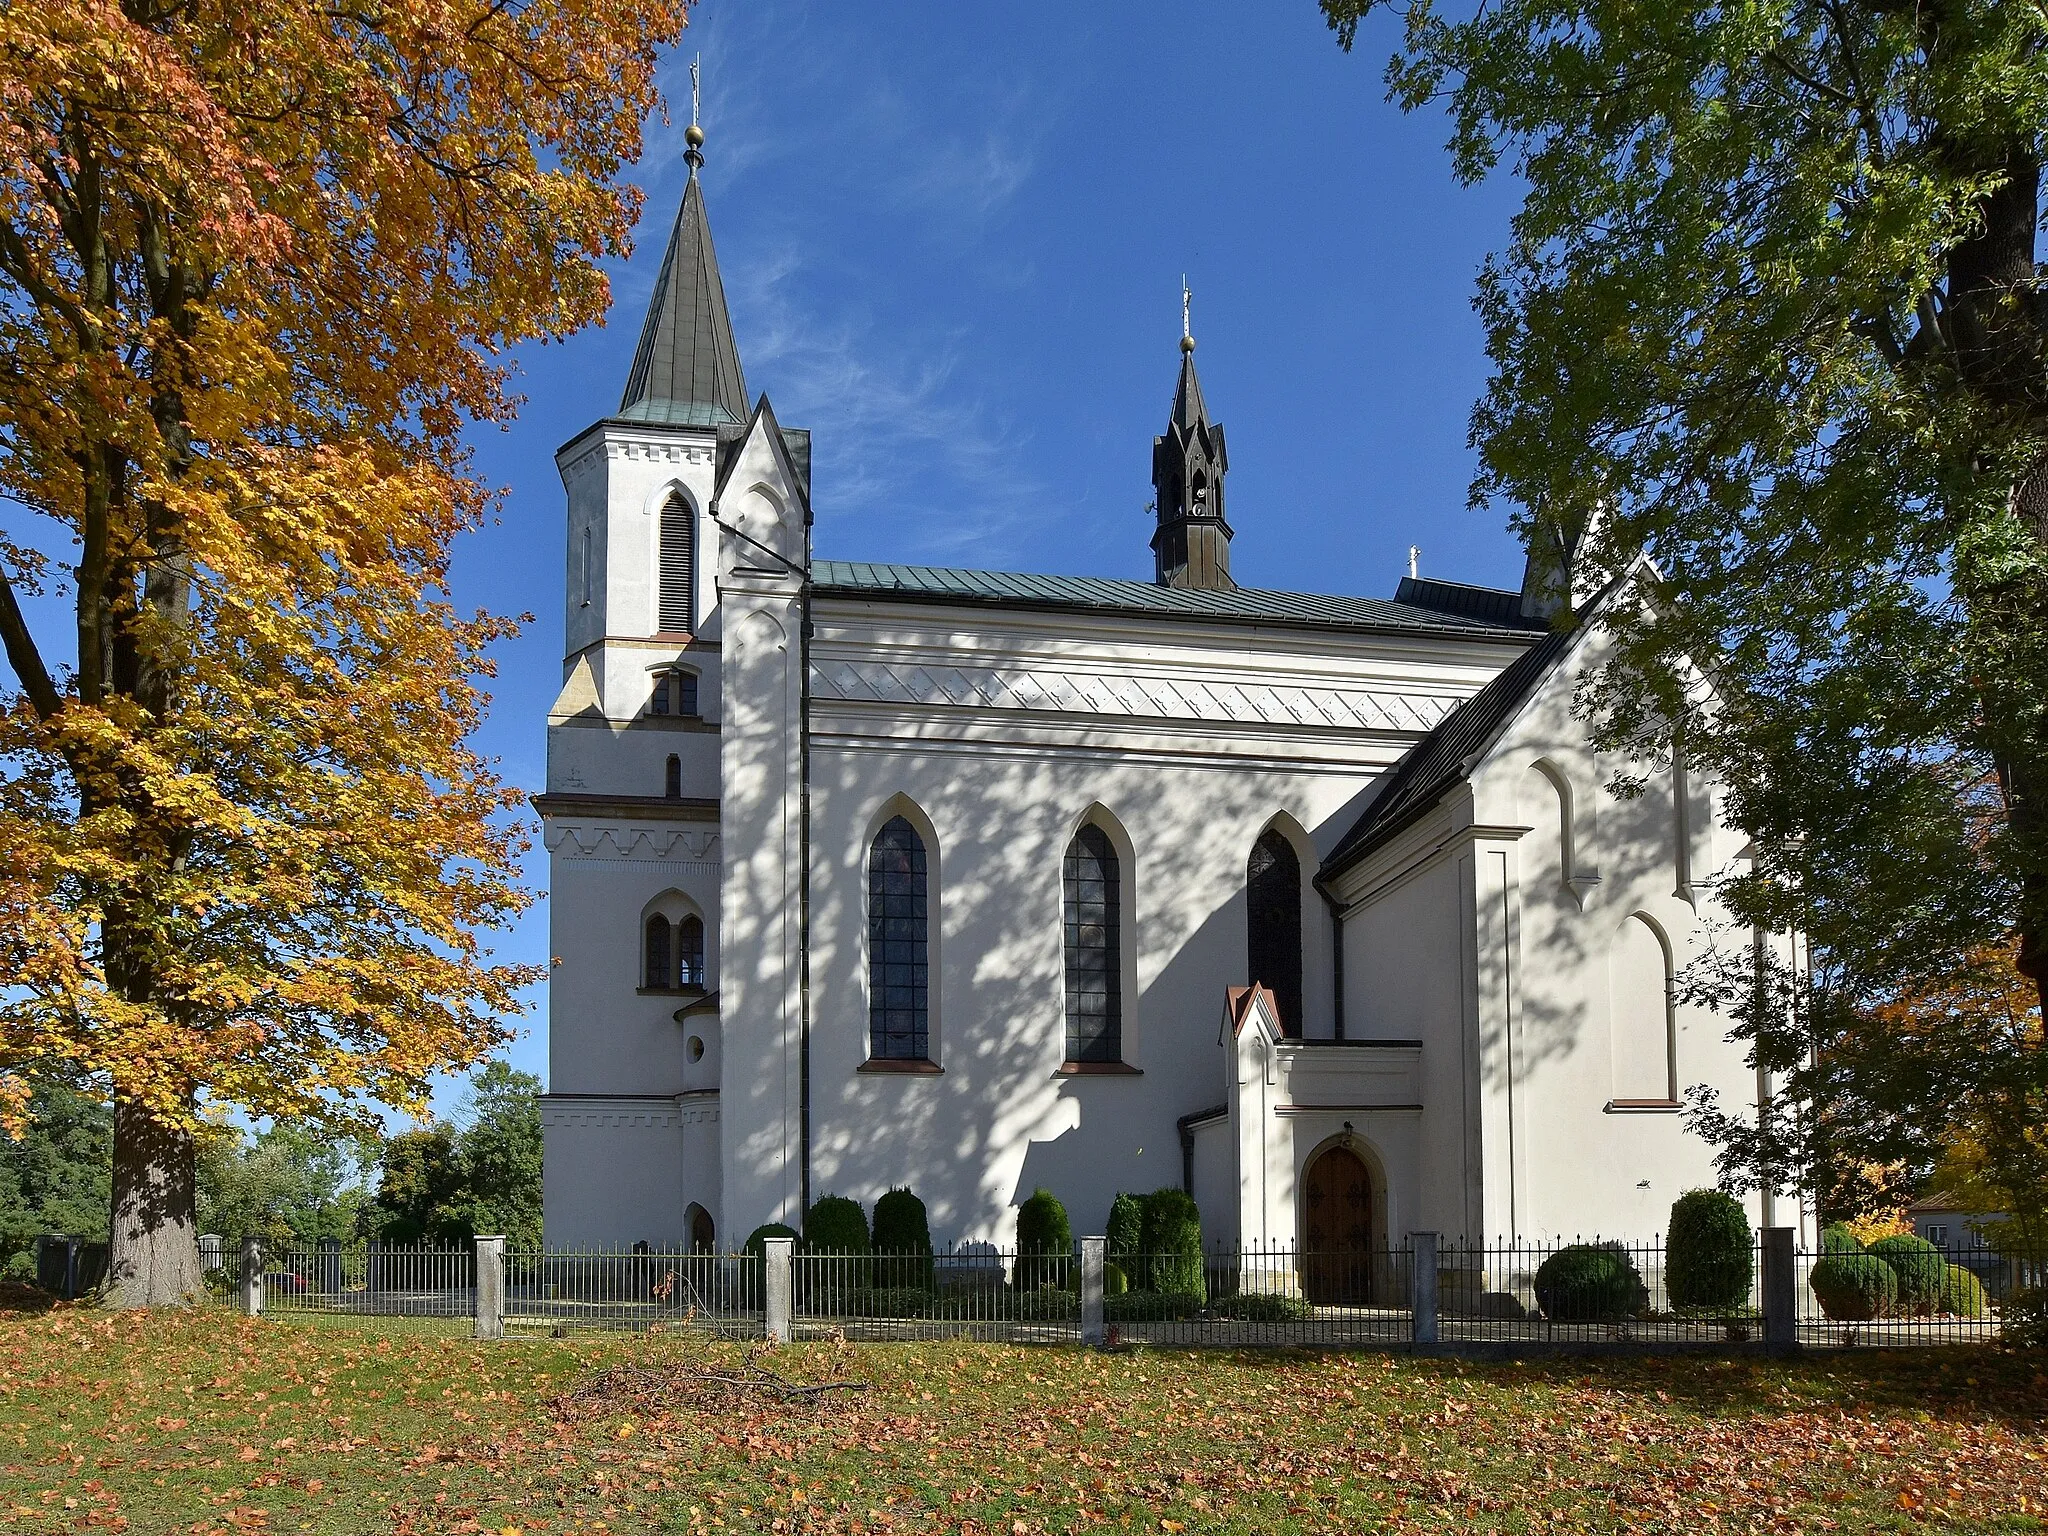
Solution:
M561 678L553 453L625 383L696 53L739 354L813 432L817 555L1149 578L1186 272L1239 582L1391 596L1413 543L1425 573L1516 584L1501 514L1464 504L1473 281L1513 188L1454 184L1444 117L1384 100L1393 43L1382 20L1341 53L1313 0L702 0L610 324L528 350L518 424L475 436L506 504L457 596L537 616L485 729L512 782L543 786ZM545 901L500 952L545 961ZM522 1032L514 1063L545 1073L545 991Z

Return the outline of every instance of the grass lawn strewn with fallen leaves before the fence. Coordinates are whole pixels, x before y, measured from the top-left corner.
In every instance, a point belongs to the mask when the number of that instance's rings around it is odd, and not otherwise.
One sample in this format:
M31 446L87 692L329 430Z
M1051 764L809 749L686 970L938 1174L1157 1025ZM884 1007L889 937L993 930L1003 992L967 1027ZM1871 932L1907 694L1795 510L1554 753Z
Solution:
M2042 1530L2048 1360L1477 1364L797 1346L811 1405L592 1397L684 1335L479 1346L0 1311L0 1532ZM563 1405L571 1389L584 1391Z

